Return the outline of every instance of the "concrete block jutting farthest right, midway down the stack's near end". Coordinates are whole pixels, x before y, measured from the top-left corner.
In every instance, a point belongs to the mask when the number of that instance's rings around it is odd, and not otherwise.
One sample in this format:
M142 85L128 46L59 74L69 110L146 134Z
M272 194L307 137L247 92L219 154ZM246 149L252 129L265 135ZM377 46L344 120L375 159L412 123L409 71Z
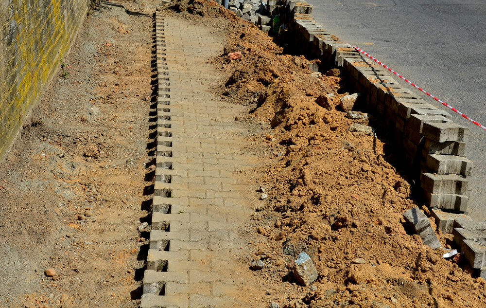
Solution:
M462 156L429 154L427 168L437 174L471 175L472 162Z

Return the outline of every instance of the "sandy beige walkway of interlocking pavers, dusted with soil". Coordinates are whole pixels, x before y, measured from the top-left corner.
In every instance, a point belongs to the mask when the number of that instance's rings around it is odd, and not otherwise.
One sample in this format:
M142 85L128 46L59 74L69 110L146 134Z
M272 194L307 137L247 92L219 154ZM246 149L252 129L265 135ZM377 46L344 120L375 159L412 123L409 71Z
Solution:
M252 288L235 261L238 227L253 213L235 176L248 168L243 129L208 89L220 78L208 57L223 50L209 31L156 13L159 137L142 308L239 307Z

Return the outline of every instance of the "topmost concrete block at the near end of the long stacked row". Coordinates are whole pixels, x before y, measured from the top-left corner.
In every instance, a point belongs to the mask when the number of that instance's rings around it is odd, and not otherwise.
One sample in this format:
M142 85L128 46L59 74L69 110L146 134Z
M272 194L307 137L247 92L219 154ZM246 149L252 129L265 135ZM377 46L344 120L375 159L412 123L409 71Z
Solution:
M454 122L424 123L422 135L436 142L468 141L469 128Z

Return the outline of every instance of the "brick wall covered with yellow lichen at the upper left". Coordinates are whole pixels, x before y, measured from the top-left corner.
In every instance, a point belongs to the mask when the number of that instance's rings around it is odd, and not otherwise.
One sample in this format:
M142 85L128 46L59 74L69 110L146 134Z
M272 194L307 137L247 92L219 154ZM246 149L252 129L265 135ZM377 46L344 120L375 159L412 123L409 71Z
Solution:
M0 160L69 50L89 0L0 0Z

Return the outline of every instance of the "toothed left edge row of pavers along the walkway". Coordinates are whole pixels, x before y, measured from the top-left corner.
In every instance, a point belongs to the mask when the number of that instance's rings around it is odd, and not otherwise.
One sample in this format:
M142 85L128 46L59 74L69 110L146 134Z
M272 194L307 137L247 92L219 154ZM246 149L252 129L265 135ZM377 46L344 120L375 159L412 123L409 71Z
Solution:
M162 144L157 143L156 158L156 184L152 205L152 224L150 232L150 247L147 256L147 269L143 275L141 308L179 306L178 300L173 296L165 296L171 288L177 288L179 273L177 267L177 252L171 252L171 240L183 239L181 232L174 232L173 204L170 202L172 190L172 137L170 115L170 76L166 62L164 19L160 11L156 12L156 66L159 83L157 99L157 135L165 139ZM163 147L163 151L159 148ZM161 184L164 183L164 184ZM175 214L177 215L177 214ZM180 217L177 217L180 219ZM182 237L181 237L182 236ZM187 260L187 257L186 257ZM178 278L179 277L179 278Z

